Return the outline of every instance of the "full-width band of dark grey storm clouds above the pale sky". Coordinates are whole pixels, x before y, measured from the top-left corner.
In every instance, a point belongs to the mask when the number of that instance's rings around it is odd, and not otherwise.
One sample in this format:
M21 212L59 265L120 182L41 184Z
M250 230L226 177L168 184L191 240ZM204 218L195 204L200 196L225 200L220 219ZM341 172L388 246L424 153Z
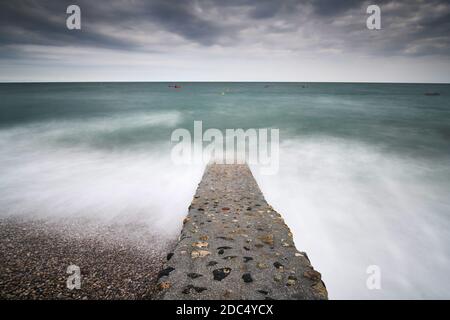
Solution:
M365 9L372 3L381 6L383 32L368 41ZM82 9L81 32L65 28L70 4ZM146 28L194 45L246 45L256 40L244 31L259 27L264 34L258 41L267 34L307 30L319 39L310 50L449 55L449 24L446 0L15 0L0 2L0 54L10 53L2 47L27 44L148 51L145 39L132 37L133 30ZM165 39L160 42L164 47Z

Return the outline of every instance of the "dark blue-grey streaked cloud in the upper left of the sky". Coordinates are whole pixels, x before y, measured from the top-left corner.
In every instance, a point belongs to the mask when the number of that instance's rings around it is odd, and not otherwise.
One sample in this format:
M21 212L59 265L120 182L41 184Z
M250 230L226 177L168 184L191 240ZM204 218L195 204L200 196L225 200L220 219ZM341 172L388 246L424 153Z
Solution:
M65 27L66 8L77 4L82 9L83 32ZM193 1L65 1L16 0L0 2L0 44L93 45L133 49L126 37L100 32L103 25L122 25L124 29L151 22L174 34L200 44L214 44L222 30L193 13ZM225 30L223 30L225 31Z

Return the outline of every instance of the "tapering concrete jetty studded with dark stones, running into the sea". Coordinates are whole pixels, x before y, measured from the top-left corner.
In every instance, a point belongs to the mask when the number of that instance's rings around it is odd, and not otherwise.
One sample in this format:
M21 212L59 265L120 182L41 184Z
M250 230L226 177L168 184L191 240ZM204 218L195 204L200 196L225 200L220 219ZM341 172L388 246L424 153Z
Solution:
M247 165L208 165L156 299L327 299Z

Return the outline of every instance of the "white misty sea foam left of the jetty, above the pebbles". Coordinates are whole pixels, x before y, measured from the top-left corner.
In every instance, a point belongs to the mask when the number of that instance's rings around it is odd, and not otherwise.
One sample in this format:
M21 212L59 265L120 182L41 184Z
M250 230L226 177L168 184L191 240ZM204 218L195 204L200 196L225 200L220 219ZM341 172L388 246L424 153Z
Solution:
M59 139L86 130L173 125L179 114L137 114L121 120L38 123L0 131L1 216L88 217L147 222L173 237L181 228L202 166L175 166L169 145L102 150ZM168 140L169 142L169 140Z

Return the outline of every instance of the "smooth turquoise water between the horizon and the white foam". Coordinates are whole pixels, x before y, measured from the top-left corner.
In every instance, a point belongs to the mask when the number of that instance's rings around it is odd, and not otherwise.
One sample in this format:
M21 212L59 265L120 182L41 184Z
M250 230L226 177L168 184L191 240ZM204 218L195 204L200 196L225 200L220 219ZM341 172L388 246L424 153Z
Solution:
M206 128L276 127L282 138L324 135L393 152L448 155L449 85L266 85L186 83L171 89L167 83L2 84L0 127L173 112L182 114L177 124L186 128L200 119ZM128 148L167 137L160 128L152 130L137 126L80 137L79 142Z

